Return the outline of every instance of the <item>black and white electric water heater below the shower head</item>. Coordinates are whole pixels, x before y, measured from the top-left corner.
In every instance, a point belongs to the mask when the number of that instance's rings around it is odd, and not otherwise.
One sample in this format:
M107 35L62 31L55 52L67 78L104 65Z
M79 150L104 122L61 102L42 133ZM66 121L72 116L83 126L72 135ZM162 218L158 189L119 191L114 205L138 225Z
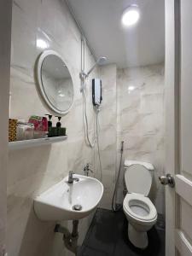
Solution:
M102 80L92 79L92 102L94 106L102 103Z

